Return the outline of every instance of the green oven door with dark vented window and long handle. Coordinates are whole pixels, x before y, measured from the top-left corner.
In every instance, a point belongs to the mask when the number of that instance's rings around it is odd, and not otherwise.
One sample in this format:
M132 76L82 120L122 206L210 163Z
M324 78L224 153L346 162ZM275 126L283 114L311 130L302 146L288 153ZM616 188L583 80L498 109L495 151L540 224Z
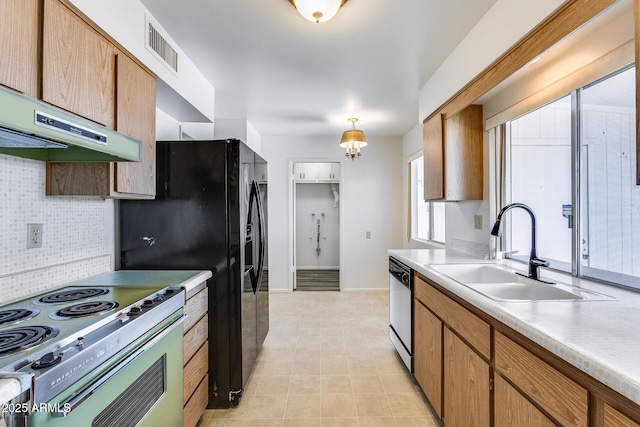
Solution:
M30 426L182 426L183 319L180 313L169 326L152 332L143 345L73 394L40 405Z

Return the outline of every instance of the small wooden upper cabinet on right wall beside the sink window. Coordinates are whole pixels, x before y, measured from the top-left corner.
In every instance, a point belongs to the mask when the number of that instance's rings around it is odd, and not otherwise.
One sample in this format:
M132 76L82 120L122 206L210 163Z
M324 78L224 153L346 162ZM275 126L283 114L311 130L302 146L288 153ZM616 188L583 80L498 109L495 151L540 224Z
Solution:
M423 127L425 200L482 200L482 105Z

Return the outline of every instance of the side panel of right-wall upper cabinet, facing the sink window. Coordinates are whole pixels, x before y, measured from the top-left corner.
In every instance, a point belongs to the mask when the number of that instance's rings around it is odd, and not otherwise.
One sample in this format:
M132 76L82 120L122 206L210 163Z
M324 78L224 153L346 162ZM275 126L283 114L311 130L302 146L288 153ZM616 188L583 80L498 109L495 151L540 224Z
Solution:
M482 200L482 105L470 105L446 120L446 200Z

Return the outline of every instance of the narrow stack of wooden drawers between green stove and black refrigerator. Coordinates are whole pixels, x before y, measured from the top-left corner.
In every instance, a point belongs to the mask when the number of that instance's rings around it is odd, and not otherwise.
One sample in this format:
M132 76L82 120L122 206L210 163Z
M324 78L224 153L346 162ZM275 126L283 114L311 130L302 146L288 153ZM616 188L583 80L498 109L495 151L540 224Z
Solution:
M184 306L184 426L194 427L209 400L208 291L206 282L187 292Z

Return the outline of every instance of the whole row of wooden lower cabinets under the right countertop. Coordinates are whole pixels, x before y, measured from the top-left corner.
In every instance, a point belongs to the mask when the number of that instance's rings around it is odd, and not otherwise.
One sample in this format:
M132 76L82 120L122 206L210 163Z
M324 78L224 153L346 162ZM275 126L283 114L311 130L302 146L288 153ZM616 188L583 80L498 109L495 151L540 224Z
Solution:
M417 273L414 335L445 427L640 427L640 405Z

